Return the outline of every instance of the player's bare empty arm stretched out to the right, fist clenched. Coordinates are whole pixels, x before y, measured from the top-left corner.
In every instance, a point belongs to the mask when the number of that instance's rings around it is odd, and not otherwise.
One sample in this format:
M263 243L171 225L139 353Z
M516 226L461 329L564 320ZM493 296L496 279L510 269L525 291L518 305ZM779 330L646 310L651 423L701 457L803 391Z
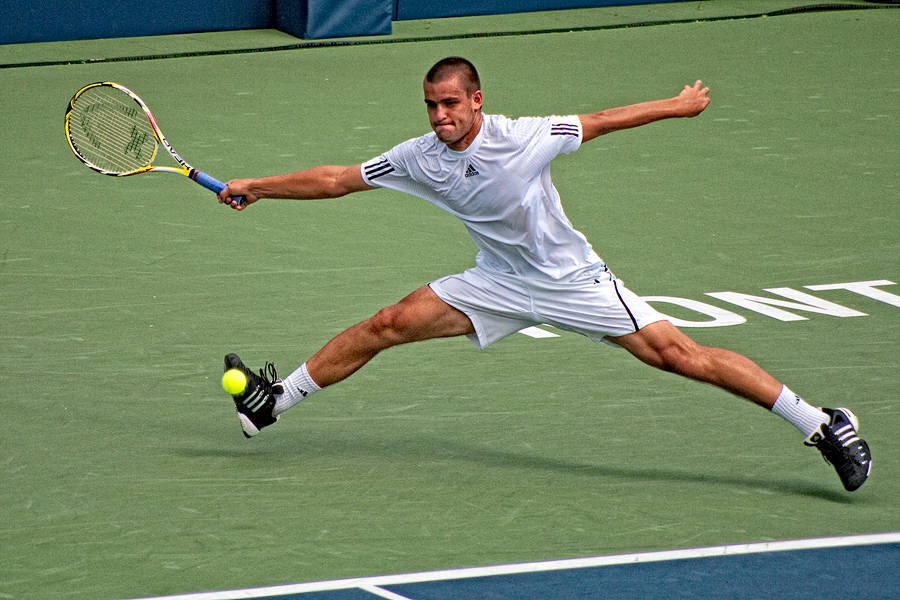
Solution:
M612 133L620 129L630 129L659 121L679 117L695 117L709 104L709 88L697 80L694 85L686 85L677 96L660 100L650 100L609 108L600 112L579 115L582 142Z

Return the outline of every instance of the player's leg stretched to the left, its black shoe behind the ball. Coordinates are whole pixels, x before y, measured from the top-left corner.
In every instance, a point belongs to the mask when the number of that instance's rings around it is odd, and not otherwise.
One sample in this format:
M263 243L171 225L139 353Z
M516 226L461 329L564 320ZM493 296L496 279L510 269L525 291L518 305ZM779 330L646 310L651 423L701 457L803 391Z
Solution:
M346 329L293 373L278 379L274 366L253 373L234 354L225 357L225 370L236 368L247 387L234 396L244 435L252 437L274 423L288 408L321 388L346 379L379 352L410 342L474 332L469 318L428 286Z

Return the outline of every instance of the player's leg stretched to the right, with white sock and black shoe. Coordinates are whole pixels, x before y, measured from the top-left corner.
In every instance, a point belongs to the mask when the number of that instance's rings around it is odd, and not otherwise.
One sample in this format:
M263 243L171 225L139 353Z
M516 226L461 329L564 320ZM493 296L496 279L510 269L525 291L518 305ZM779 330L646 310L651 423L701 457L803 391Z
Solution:
M807 445L822 452L848 491L866 481L872 455L850 410L811 406L749 358L702 346L668 321L607 339L649 365L716 385L783 417L807 436Z

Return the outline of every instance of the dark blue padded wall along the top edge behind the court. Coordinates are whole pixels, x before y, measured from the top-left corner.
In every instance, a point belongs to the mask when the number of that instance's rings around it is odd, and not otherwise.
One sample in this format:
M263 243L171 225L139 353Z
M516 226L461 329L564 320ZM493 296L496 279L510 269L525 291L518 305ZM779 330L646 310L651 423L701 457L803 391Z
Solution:
M391 20L673 0L0 0L0 44L277 27L303 39L385 35Z

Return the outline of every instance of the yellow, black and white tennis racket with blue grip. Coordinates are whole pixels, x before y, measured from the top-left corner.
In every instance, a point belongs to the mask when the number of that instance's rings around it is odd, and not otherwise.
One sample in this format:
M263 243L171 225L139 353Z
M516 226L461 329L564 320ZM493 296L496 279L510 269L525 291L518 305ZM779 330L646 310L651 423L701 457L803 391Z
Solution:
M225 184L184 162L169 144L153 113L140 97L118 83L91 83L69 100L66 137L81 162L104 175L125 177L149 171L180 173L215 193ZM162 144L178 167L156 166L153 160ZM243 196L233 198L239 204Z

